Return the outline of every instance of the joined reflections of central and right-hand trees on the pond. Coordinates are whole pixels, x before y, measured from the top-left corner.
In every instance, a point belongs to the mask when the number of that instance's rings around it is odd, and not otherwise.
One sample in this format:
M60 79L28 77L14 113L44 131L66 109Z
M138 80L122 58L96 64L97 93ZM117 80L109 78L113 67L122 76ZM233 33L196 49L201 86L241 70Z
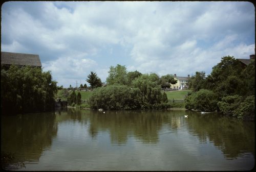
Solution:
M188 115L188 118L184 118ZM159 142L164 126L170 132L186 127L201 143L213 142L225 158L237 158L244 152L254 155L253 122L244 122L217 113L200 114L193 111L108 111L90 113L92 138L99 131L109 131L112 143L125 144L129 136L148 144ZM166 130L166 127L164 128ZM165 131L166 132L166 131Z

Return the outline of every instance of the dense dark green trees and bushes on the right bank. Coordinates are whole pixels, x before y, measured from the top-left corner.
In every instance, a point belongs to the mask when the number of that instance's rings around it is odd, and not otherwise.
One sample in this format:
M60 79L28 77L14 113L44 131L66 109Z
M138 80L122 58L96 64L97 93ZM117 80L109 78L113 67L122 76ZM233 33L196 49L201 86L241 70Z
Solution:
M193 90L185 99L186 109L219 111L240 119L254 120L255 62L245 65L234 57L223 57L210 75L196 72L188 81Z

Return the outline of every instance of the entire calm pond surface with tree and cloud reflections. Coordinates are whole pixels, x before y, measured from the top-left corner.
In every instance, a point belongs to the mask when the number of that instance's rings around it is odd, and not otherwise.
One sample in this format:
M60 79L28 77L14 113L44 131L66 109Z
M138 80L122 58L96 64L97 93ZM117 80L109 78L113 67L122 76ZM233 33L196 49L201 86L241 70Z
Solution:
M184 115L188 115L187 118ZM1 116L10 170L250 170L254 122L185 110Z

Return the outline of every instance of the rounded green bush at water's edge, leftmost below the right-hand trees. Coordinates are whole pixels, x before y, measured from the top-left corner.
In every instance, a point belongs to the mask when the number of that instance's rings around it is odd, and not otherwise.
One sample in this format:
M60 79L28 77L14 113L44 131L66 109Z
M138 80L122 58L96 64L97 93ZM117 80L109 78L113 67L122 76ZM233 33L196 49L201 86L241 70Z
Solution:
M213 91L206 89L191 93L185 98L185 108L199 111L215 111L217 110L217 95Z

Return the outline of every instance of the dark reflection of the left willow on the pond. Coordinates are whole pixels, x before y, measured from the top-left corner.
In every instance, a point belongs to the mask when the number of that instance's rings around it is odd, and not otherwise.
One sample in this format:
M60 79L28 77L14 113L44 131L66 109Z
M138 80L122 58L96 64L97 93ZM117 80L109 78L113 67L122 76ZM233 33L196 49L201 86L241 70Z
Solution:
M38 161L57 130L54 112L1 116L1 151L13 154L12 163Z

